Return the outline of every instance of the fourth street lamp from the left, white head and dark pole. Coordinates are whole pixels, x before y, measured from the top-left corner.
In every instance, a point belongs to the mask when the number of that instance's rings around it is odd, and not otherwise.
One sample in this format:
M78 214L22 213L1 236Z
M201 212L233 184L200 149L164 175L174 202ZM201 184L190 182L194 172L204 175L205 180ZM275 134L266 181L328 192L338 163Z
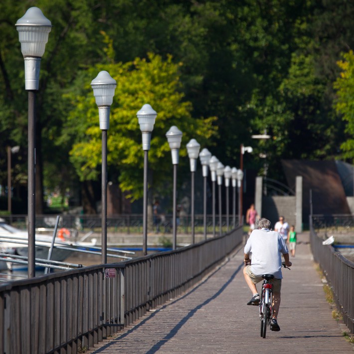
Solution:
M179 162L179 148L182 141L182 132L172 126L166 133L172 156L172 164L174 165L174 192L173 192L173 249L177 244L177 165Z

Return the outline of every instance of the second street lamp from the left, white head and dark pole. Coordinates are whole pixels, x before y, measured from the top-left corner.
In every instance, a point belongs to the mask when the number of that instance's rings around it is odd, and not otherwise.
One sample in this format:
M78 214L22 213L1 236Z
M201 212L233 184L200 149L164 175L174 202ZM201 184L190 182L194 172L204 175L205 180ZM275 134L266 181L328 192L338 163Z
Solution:
M116 86L116 80L107 71L100 71L91 82L93 95L98 106L100 129L102 131L102 264L107 263L107 131L109 129L109 115Z

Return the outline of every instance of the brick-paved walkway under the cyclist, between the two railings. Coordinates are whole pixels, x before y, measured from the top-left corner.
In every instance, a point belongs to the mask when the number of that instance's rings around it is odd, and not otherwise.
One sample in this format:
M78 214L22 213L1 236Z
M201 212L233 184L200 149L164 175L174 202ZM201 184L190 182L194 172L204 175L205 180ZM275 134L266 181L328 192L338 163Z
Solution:
M88 353L353 353L342 335L347 327L332 318L308 239L299 235L292 270L283 270L280 332L260 337L258 307L246 306L241 247L196 287Z

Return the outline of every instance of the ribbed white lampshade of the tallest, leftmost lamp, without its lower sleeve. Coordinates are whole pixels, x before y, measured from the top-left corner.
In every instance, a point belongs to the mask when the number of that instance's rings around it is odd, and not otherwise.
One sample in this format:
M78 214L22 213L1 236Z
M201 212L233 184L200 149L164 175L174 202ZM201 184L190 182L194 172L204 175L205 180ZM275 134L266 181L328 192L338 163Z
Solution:
M21 52L24 57L41 58L44 54L45 44L52 24L43 15L38 7L30 7L26 13L17 20L16 29L21 43Z

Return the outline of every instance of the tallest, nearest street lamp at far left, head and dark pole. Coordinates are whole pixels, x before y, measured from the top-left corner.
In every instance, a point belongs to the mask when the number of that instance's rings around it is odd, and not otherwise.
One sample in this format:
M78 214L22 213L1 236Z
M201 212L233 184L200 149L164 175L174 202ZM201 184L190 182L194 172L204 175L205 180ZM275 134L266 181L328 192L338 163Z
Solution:
M16 29L24 57L24 82L28 91L28 278L35 277L35 99L40 61L51 22L38 7L30 7L17 20Z

